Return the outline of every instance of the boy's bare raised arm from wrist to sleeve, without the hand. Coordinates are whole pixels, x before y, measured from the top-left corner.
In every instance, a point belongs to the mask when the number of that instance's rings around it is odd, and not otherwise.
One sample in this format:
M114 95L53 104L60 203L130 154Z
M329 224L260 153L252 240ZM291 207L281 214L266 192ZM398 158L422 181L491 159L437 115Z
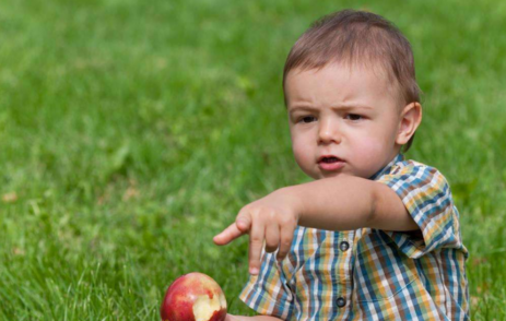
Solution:
M289 189L304 200L298 222L302 226L330 230L419 228L400 197L381 182L340 176Z

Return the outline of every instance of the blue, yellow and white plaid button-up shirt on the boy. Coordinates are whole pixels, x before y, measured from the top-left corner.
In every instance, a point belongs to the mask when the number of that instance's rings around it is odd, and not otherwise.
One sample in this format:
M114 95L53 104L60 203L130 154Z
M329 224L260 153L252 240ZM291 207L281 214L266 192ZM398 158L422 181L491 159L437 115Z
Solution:
M298 226L287 258L264 253L239 298L283 320L469 320L468 252L443 175L399 154L370 179L399 194L419 231Z

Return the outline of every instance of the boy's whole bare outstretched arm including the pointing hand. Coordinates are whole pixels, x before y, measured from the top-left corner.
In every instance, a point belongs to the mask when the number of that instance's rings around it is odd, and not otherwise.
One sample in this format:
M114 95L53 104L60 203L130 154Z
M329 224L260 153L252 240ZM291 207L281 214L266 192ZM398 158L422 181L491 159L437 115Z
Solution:
M414 230L417 225L400 197L388 186L340 175L279 189L244 206L236 221L214 237L223 246L249 234L249 272L258 274L261 252L284 259L298 225L328 230L370 227Z

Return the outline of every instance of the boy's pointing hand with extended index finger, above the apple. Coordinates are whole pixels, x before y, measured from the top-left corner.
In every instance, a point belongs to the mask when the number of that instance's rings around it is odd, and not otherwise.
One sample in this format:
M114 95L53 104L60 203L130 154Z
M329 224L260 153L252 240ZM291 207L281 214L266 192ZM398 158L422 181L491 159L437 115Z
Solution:
M286 257L299 213L299 200L290 193L290 188L280 189L244 206L235 222L213 240L224 246L249 234L249 273L256 275L260 271L263 241L266 252L279 249L276 259Z

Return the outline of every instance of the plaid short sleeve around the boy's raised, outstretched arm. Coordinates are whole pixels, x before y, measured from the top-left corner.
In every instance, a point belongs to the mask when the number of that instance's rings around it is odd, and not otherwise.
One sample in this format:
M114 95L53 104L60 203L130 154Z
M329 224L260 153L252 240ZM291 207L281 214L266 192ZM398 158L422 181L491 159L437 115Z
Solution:
M399 165L401 164L401 165ZM434 167L402 162L377 179L402 200L420 234L384 231L412 259L443 248L462 249L459 214L445 177Z

